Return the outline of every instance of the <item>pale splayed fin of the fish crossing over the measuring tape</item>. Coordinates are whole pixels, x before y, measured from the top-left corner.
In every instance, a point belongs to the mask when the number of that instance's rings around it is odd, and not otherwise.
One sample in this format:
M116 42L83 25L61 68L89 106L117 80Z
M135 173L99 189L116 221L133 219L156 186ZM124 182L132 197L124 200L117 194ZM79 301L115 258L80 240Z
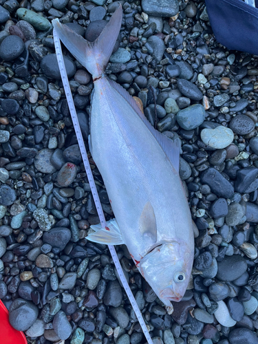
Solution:
M116 219L110 219L107 222L107 226L103 228L101 224L91 226L95 230L94 233L89 234L86 239L89 241L98 242L98 244L106 245L120 245L124 244L120 228Z

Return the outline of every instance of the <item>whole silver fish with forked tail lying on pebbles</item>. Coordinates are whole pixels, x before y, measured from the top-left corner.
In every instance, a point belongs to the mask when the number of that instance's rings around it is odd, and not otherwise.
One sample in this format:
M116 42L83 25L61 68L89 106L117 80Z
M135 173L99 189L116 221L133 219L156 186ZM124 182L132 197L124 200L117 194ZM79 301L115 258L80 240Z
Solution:
M94 80L89 149L116 219L92 226L87 239L125 244L166 306L180 301L191 277L193 223L179 176L180 140L156 131L135 100L105 76L122 23L121 6L94 42L52 21L69 52Z

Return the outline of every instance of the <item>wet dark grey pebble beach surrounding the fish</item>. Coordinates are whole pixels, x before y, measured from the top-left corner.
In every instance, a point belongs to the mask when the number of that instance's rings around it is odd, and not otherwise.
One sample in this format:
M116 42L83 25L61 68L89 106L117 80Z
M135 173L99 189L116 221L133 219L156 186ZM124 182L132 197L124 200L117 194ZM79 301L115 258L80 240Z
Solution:
M180 138L197 226L191 281L172 314L120 245L125 277L153 344L258 344L258 56L216 41L203 0L0 0L0 299L28 344L147 343L108 247L85 239L100 221L51 23L94 41L120 4L106 74ZM63 54L108 220L87 142L94 83Z

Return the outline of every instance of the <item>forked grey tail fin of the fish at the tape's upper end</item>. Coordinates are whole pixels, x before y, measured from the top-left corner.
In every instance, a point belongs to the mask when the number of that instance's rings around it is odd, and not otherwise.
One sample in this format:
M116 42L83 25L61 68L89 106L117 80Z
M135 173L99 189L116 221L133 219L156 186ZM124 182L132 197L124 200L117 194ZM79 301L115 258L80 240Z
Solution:
M89 42L83 36L76 34L66 25L61 24L58 19L54 19L52 23L67 50L92 74L93 80L100 78L109 62L120 32L122 6L114 12L103 32L94 42Z

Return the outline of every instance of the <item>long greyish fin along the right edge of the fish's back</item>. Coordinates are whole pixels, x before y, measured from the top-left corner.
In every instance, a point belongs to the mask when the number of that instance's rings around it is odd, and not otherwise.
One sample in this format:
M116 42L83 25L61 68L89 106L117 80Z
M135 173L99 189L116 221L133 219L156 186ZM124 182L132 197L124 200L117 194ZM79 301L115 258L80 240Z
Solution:
M111 87L116 89L116 91L122 96L127 102L131 105L134 111L140 116L140 118L143 120L144 124L147 126L149 131L153 134L155 139L158 141L160 146L162 147L164 153L169 158L171 164L175 168L175 171L179 171L179 156L180 156L180 139L176 138L175 140L171 140L170 138L167 138L164 136L160 131L153 128L149 120L142 114L142 111L140 111L140 108L136 104L136 101L133 99L132 96L127 92L124 87L118 85L114 80L109 80L109 83Z

